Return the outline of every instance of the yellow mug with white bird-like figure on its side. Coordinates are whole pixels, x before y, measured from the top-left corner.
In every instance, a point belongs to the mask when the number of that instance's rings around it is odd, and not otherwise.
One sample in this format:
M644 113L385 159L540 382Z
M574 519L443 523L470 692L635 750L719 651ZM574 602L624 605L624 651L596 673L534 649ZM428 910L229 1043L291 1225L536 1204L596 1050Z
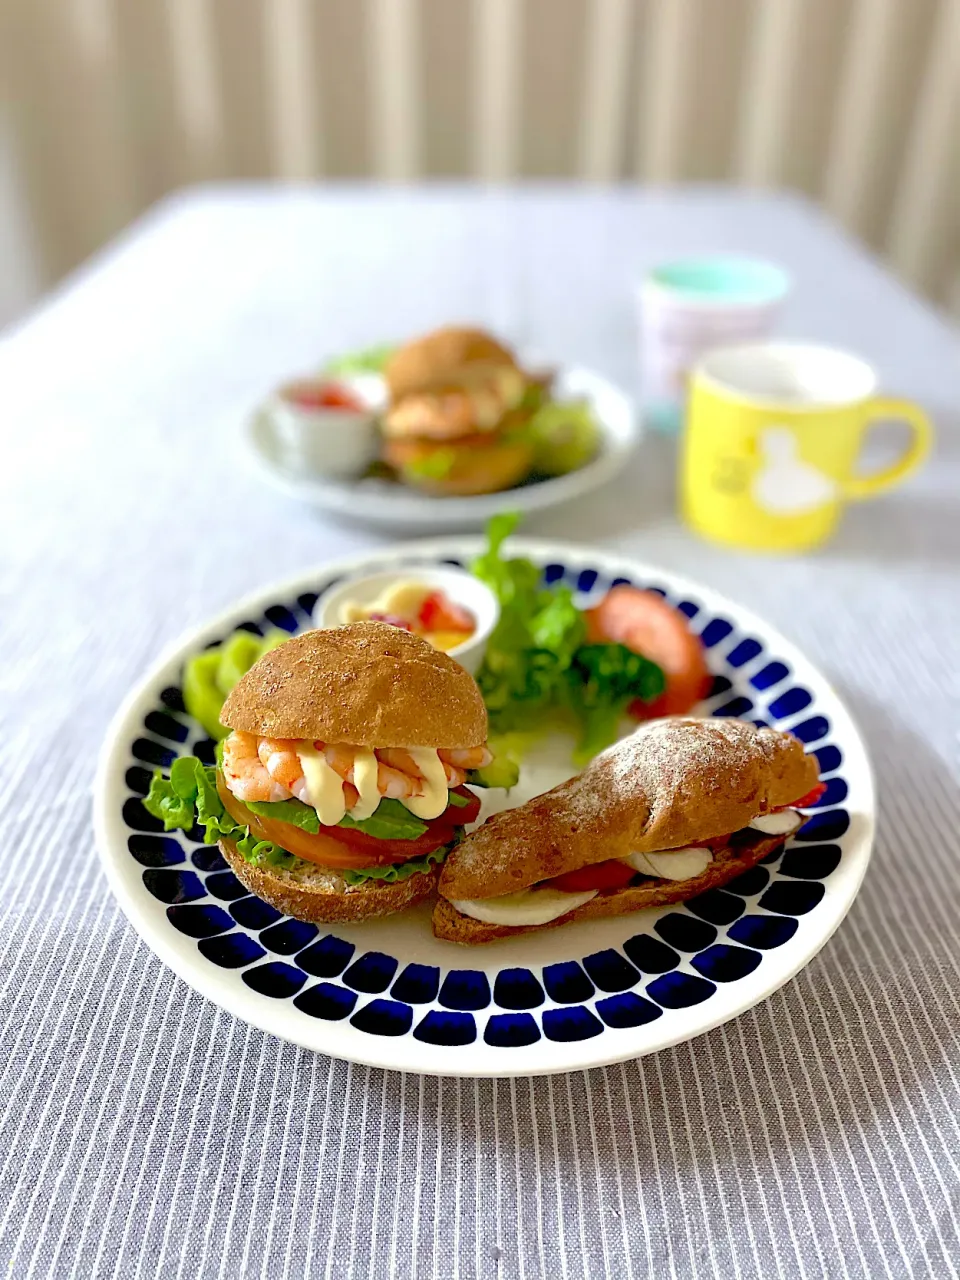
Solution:
M892 466L859 475L863 438L878 419L902 419L913 439ZM845 500L905 480L932 439L927 415L877 396L874 370L856 356L773 342L719 348L690 378L684 518L728 547L805 550L831 535Z

